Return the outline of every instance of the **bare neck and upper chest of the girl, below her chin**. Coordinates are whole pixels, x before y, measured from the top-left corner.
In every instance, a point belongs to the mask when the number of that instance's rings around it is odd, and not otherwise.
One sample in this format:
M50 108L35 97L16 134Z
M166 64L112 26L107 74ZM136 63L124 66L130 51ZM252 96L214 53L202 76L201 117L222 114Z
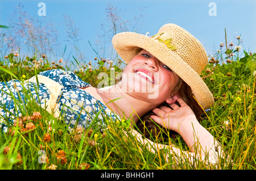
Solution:
M131 94L122 91L118 85L98 89L98 94L110 110L122 118L131 119L135 123L145 113L158 106L141 99L134 98Z

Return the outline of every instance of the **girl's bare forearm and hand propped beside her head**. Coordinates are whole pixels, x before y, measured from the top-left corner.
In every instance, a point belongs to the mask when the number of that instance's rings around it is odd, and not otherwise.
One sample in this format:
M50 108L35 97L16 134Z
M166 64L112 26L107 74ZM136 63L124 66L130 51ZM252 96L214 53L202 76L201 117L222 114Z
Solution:
M205 129L196 119L191 108L184 100L177 98L177 104L170 104L169 107L160 107L153 110L155 115L151 116L156 123L171 129L180 134L192 152L207 154L208 151L215 151L217 142L212 134Z

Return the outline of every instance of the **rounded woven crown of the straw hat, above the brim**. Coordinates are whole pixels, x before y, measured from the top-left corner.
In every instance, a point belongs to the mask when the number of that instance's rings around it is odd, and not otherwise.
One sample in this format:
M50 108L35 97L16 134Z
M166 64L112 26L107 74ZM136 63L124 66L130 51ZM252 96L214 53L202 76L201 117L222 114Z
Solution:
M171 44L176 47L172 51L187 62L198 74L207 66L208 57L203 45L188 31L176 24L165 24L160 28L157 35L160 35L158 37L163 40L172 39Z

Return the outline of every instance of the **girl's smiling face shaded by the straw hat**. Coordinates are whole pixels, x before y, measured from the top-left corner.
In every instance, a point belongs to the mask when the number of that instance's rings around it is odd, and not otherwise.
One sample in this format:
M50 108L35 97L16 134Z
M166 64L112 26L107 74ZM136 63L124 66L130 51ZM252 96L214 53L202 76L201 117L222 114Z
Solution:
M143 49L126 66L121 82L128 94L162 103L170 98L179 79L174 71Z

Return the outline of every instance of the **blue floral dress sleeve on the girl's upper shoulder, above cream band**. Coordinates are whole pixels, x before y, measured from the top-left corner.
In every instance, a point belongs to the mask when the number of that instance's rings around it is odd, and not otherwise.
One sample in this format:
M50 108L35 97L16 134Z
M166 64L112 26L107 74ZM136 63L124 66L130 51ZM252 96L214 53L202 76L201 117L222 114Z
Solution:
M72 71L53 69L40 72L39 74L56 81L64 87L83 88L91 86L89 83L82 81L82 79Z

